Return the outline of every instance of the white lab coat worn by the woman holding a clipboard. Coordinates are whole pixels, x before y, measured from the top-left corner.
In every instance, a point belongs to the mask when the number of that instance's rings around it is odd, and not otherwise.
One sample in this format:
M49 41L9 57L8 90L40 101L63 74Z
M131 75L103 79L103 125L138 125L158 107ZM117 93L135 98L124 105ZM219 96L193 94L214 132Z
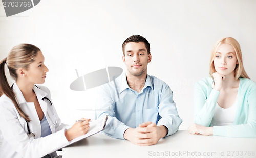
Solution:
M68 125L61 124L51 100L50 91L45 86L34 86L33 90L37 96L42 111L51 128L52 134L44 138L41 136L41 124L34 103L26 102L22 92L14 83L13 91L22 110L31 119L28 122L30 131L35 134L35 139L30 140L25 119L23 119L13 102L5 94L0 97L0 157L42 157L54 153L56 150L67 145L69 142L65 137ZM52 101L51 101L52 102ZM2 134L1 134L2 133ZM2 136L1 136L2 135ZM2 139L2 140L1 140Z

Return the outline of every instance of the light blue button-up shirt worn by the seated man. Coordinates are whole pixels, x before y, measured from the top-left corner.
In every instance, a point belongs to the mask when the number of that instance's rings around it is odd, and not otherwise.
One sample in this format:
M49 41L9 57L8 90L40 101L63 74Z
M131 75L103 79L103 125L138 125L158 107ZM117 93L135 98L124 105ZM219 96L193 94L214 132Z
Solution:
M174 134L182 122L179 118L173 92L169 86L154 76L147 75L140 92L131 89L126 73L100 87L97 97L97 117L109 115L104 132L124 139L126 129L151 121L168 128Z

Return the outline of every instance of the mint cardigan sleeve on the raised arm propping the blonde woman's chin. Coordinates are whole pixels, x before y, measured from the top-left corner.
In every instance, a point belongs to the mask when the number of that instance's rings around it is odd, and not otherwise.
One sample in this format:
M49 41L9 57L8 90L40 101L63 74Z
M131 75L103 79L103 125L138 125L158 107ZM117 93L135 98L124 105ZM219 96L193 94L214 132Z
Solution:
M208 95L209 93L209 95ZM198 81L194 87L194 123L209 127L220 92L207 84L207 78Z

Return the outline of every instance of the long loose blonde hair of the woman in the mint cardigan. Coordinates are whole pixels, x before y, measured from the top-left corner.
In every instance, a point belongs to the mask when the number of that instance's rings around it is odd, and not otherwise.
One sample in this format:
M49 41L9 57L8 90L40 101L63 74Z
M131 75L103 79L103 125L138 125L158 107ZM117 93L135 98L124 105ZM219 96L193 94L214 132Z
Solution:
M214 67L214 58L216 54L216 49L220 44L230 44L234 48L234 52L236 54L238 64L236 65L236 68L234 68L234 77L238 80L238 78L249 78L249 76L246 74L243 66L243 59L242 59L242 52L240 48L240 44L238 41L232 37L225 37L221 38L219 41L215 43L214 48L211 51L211 57L210 57L210 76L212 77L212 74L216 72Z

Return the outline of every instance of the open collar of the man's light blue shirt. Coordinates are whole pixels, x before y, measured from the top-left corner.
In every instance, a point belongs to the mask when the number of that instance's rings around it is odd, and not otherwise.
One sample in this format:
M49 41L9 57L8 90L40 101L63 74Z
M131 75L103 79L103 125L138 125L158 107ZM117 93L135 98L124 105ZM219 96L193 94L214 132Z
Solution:
M150 87L154 90L154 88L153 88L153 83L152 83L152 82L153 82L153 81L152 81L151 76L147 74L147 75L146 75L146 82L145 82L145 85L144 85L144 87L142 88L142 90L144 90L144 89L147 88L148 86L150 86ZM123 73L123 74L122 74L120 85L121 85L121 86L120 86L120 88L118 89L119 94L120 94L122 91L124 91L125 89L129 89L129 88L130 88L129 85L128 85L128 83L127 83L126 73Z

